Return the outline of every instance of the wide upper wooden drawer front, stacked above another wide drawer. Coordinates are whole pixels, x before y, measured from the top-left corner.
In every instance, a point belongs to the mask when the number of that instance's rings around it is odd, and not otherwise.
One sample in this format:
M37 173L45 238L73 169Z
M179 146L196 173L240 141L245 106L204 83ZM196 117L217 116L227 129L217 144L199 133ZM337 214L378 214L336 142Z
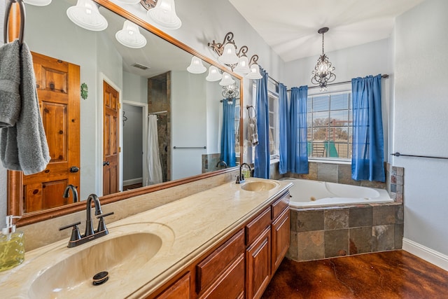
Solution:
M244 230L240 230L202 260L201 263L197 264L197 292L199 293L214 281L232 263L232 260L237 258L239 253L244 252L244 249Z

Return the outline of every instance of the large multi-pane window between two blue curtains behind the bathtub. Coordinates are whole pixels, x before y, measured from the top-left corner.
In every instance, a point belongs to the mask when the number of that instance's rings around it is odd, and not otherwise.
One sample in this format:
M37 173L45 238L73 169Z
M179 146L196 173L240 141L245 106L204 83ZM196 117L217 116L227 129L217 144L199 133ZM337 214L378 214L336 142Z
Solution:
M311 95L307 110L308 157L351 159L351 91Z

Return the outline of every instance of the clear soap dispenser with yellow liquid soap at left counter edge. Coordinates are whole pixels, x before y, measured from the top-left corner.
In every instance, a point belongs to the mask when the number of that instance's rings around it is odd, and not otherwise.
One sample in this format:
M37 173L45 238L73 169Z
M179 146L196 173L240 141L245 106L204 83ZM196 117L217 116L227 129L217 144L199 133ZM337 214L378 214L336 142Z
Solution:
M20 265L25 260L25 244L23 232L16 232L13 224L14 218L19 216L6 216L6 228L0 235L0 272Z

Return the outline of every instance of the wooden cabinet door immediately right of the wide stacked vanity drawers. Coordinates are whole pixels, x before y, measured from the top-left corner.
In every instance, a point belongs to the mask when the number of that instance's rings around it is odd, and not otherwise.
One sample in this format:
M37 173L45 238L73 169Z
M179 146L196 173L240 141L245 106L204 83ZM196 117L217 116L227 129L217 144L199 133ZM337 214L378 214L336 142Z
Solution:
M247 298L260 298L271 278L271 228L246 250Z

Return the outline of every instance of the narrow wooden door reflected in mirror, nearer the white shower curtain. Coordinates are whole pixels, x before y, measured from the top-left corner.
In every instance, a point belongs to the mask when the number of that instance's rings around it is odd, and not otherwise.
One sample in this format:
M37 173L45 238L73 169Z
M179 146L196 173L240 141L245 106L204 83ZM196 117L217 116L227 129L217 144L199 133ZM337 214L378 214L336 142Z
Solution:
M119 192L119 112L118 91L103 81L103 195Z

